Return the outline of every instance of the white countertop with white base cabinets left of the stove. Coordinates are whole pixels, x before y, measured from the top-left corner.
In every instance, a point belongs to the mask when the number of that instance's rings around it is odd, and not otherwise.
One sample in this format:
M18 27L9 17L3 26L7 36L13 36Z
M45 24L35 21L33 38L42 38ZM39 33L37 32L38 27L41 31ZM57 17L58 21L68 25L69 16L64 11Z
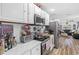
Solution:
M40 55L41 42L32 40L27 43L18 44L16 47L8 50L3 55Z

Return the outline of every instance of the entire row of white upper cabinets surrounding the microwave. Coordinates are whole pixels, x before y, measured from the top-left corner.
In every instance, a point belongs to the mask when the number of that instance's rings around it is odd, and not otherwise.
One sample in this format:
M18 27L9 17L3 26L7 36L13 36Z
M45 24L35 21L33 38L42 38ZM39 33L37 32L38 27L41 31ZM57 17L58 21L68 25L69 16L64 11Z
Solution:
M0 4L0 17L3 21L34 24L34 14L45 18L45 25L49 25L49 14L33 3Z

